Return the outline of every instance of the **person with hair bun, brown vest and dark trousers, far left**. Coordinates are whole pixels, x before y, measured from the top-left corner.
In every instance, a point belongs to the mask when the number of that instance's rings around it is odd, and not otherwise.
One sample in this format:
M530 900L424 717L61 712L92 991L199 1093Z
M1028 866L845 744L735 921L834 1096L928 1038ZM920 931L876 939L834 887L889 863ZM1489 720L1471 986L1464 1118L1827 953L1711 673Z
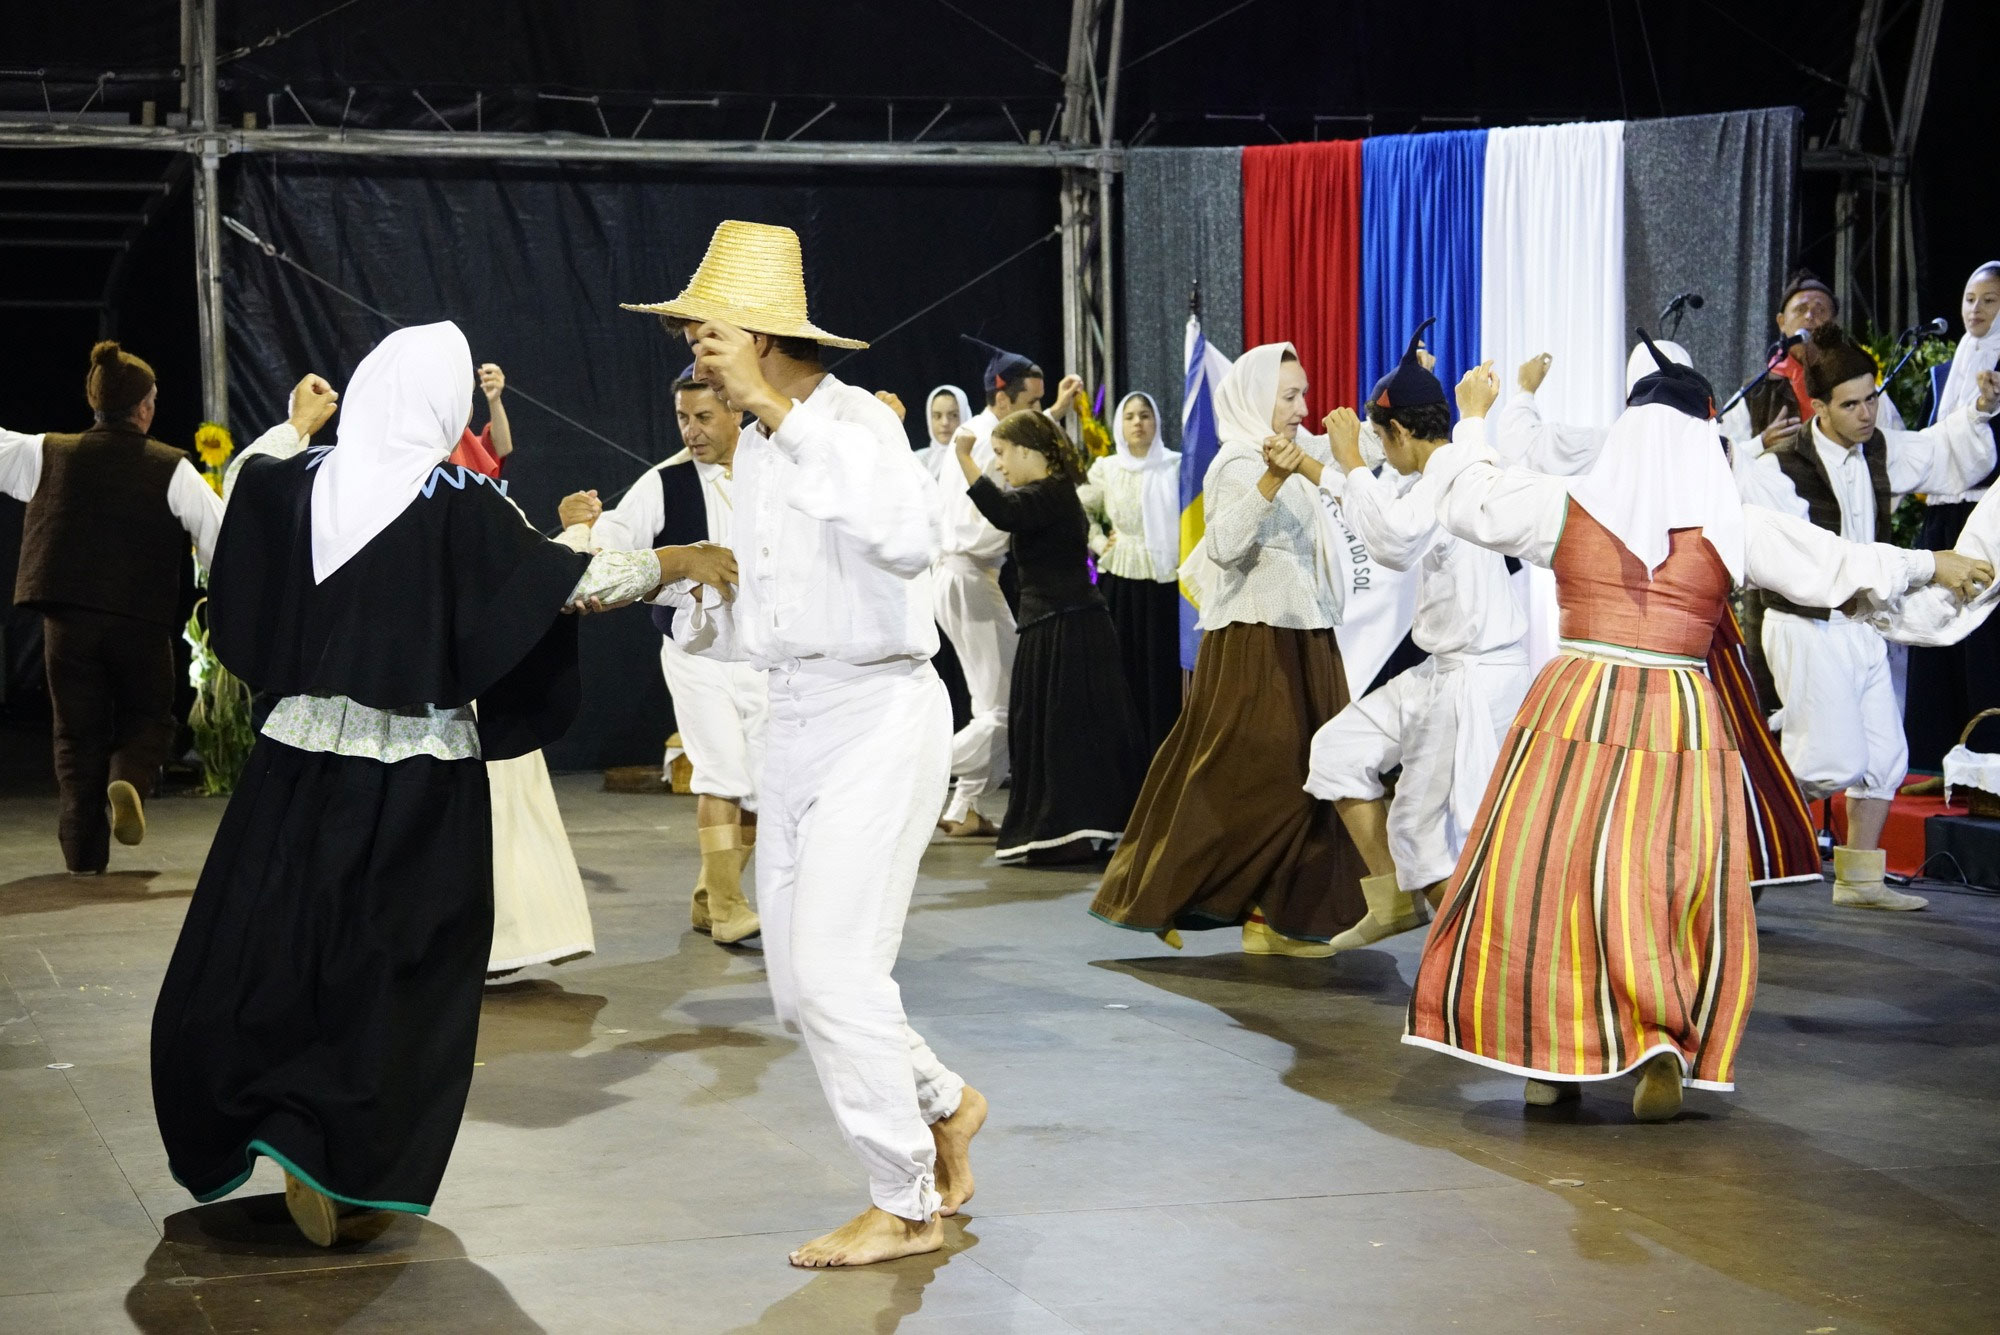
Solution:
M316 388L310 388L316 386ZM56 837L70 871L94 875L110 839L146 837L144 799L174 743L180 568L206 566L222 498L186 454L150 440L152 368L114 342L90 350L80 436L0 432L0 494L28 502L14 602L42 614L56 713ZM334 394L308 378L290 426L310 436Z

